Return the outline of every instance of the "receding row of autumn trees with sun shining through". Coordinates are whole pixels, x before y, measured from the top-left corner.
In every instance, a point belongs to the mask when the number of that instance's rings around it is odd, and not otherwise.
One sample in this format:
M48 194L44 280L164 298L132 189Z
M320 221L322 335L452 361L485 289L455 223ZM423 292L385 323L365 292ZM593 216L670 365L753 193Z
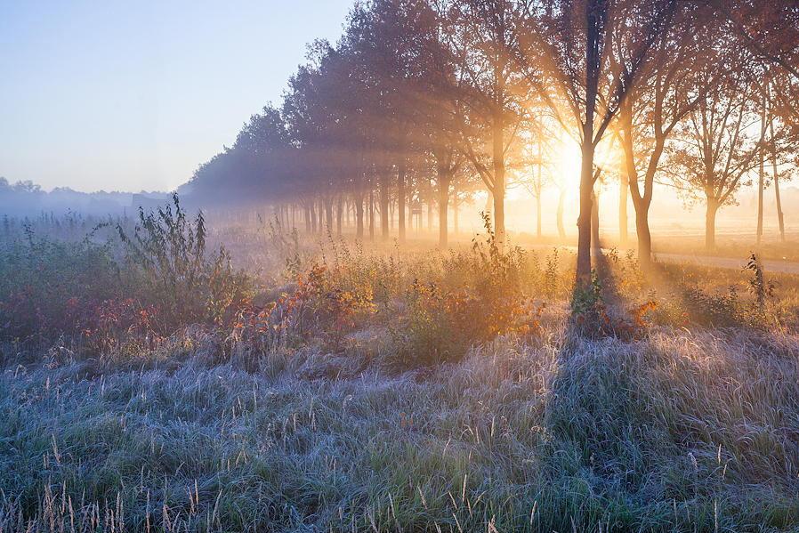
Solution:
M368 0L308 60L280 106L199 167L193 194L268 201L311 229L352 213L358 238L375 212L387 237L396 214L400 242L424 201L447 246L453 198L488 190L501 245L509 184L539 202L545 176L565 190L556 153L575 142L585 281L597 182L620 180L622 209L629 190L647 267L656 182L704 197L714 246L719 207L755 169L761 206L770 180L779 197L799 141L792 0Z

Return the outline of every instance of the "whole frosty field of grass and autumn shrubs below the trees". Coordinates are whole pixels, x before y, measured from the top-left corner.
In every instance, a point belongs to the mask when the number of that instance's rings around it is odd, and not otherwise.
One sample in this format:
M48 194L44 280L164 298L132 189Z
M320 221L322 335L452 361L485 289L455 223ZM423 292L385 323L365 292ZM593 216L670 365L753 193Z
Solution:
M98 222L3 229L0 531L799 529L799 279L757 258L575 292L490 224Z

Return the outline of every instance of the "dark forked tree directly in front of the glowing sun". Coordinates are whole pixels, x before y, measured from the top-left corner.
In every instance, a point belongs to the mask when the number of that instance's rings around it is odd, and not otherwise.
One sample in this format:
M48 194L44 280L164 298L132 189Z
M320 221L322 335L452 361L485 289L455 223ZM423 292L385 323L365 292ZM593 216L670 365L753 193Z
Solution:
M521 64L545 70L537 82L561 124L577 131L582 153L577 220L577 283L591 279L594 154L625 102L641 83L654 44L674 20L675 0L542 1L529 17ZM570 120L563 117L565 108Z

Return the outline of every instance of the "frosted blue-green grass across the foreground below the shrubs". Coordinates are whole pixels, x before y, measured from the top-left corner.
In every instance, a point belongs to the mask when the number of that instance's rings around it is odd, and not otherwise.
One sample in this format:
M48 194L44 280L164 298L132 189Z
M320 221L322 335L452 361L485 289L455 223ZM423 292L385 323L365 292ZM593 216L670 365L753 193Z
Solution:
M307 379L324 356L303 352L248 373L207 366L201 349L100 376L77 362L8 368L0 524L793 528L797 355L789 337L561 330L399 375Z

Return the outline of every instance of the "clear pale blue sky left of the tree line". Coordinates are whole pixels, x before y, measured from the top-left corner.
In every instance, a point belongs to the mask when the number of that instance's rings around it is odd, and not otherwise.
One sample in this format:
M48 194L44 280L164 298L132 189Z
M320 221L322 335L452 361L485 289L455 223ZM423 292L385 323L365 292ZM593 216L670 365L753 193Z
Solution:
M0 176L173 190L335 41L352 0L0 0Z

